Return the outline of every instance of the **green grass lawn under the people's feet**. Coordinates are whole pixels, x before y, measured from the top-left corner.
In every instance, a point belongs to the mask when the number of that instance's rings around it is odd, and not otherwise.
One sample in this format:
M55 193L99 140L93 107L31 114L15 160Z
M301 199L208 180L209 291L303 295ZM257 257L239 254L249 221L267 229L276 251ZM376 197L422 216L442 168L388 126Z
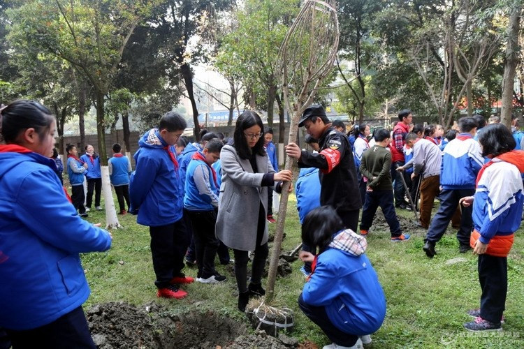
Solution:
M291 251L300 243L300 224L296 198L290 195L283 250ZM115 199L116 204L116 199ZM438 204L435 204L437 207ZM381 212L377 212L381 215ZM409 220L412 212L398 212ZM92 294L92 304L125 301L135 305L158 302L173 312L213 309L238 320L245 316L236 308L236 283L233 268L218 265L228 280L220 285L194 283L184 287L189 296L182 300L159 299L154 286L150 237L147 227L136 223L136 216L119 216L124 228L113 230L113 244L105 253L82 255L82 263ZM105 223L104 212L89 212L88 221ZM275 225L270 225L274 230ZM479 307L480 286L476 256L458 253L455 233L450 229L437 244L437 255L429 259L422 251L423 234L414 232L408 242L392 243L388 231L373 230L368 237L367 255L376 269L386 294L384 324L372 335L371 348L523 348L524 346L524 239L521 228L508 258L509 287L503 332L476 334L463 329L470 321L465 313ZM233 253L231 253L233 255ZM454 258L462 258L458 261ZM292 263L293 274L277 279L277 302L295 311L293 336L313 341L320 348L329 343L316 325L298 309L296 299L305 278ZM196 268L184 269L196 277ZM265 285L265 281L263 281ZM247 320L246 320L247 321Z

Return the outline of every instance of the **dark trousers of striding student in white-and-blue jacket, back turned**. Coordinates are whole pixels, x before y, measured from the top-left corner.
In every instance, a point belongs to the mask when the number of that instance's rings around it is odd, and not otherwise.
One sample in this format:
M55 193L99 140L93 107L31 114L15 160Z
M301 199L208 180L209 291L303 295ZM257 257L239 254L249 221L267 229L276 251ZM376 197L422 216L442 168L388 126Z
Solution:
M437 214L433 217L428 235L425 241L439 242L442 235L448 228L451 217L455 214L458 206L458 200L465 196L472 196L474 189L442 189L440 192L440 207ZM460 218L460 228L457 232L457 239L460 244L470 245L470 236L473 229L472 207L462 207L462 216Z

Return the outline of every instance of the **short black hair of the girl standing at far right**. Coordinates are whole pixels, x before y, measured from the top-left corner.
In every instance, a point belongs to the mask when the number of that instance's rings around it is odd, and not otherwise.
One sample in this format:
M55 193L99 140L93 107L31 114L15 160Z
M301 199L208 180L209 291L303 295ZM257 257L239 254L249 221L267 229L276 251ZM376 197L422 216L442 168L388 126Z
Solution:
M507 153L517 146L511 131L503 124L491 124L483 128L479 143L482 146L482 156L493 157Z

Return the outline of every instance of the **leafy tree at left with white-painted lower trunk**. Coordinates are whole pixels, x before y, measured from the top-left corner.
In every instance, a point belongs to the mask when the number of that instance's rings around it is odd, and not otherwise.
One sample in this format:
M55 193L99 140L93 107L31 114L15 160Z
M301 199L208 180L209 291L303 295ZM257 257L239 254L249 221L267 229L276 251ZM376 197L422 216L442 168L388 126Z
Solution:
M10 10L12 40L25 41L68 61L93 89L108 228L119 226L119 222L105 149L105 96L112 89L124 47L154 4L155 1L33 0Z

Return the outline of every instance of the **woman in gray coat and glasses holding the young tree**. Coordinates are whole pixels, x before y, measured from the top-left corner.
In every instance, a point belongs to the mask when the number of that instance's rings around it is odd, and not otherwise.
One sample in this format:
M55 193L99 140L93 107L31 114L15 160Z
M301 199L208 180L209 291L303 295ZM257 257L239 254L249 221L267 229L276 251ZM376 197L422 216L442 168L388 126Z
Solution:
M216 234L233 248L240 311L245 311L250 296L265 295L261 280L268 258L267 187L279 192L282 181L291 181L291 171L275 172L272 168L263 147L262 130L256 112L243 112L237 119L233 144L225 145L220 152L222 184ZM249 288L248 251L254 251Z

